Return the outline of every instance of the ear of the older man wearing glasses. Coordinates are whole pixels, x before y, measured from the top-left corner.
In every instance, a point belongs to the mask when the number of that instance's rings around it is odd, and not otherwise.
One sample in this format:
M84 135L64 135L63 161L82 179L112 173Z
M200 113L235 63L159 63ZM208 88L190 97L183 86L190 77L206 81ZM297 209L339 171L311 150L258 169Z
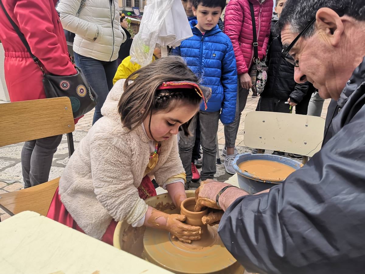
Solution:
M330 8L320 8L316 14L316 27L332 46L337 46L344 31L341 17Z

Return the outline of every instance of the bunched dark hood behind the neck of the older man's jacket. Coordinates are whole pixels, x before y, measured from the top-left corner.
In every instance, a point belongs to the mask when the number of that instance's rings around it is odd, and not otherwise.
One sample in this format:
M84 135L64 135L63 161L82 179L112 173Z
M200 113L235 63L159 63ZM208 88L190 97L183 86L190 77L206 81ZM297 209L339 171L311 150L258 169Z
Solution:
M337 101L338 106L343 108L350 95L363 83L365 83L365 57L362 59L361 64L354 70L350 80L347 81Z

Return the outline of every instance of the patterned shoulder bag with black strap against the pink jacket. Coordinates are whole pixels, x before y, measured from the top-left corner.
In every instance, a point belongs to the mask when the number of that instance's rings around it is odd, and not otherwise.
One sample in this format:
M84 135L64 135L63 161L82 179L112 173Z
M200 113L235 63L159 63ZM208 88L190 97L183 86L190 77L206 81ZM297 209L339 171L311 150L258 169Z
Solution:
M254 50L254 58L253 65L250 68L249 74L251 76L252 81L252 97L257 97L258 94L261 94L264 91L264 87L266 84L266 80L268 79L268 66L266 66L265 62L260 61L258 58L258 43L257 43L257 35L256 35L256 22L255 22L255 13L253 10L253 4L250 2L250 10L251 10L251 18L252 18L252 28L253 28L253 50Z

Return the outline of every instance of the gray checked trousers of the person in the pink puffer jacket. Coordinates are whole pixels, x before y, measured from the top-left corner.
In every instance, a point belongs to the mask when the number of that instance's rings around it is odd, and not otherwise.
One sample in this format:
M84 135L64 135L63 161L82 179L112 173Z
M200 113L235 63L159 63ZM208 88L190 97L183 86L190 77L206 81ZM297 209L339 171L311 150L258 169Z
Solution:
M226 142L226 148L234 148L236 144L239 121L241 120L241 113L245 109L248 95L249 95L249 90L246 90L245 88L241 87L238 77L235 118L234 121L229 125L224 125L224 139Z

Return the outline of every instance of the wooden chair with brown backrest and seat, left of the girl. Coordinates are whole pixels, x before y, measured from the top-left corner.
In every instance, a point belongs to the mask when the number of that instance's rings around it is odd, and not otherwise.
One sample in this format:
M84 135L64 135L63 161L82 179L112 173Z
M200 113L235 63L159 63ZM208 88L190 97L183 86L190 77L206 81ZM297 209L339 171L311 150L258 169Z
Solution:
M0 104L0 147L66 133L71 156L74 129L71 102L67 97ZM58 181L59 178L0 194L0 208L11 216L26 210L45 216Z

